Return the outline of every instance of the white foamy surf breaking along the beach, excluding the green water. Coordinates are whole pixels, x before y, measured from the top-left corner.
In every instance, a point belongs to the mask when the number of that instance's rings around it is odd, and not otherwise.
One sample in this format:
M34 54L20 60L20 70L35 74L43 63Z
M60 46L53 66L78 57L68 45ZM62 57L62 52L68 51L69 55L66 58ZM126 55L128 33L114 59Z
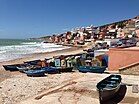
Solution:
M33 53L52 52L56 50L62 50L65 48L68 47L55 45L53 43L41 43L41 42L28 42L25 44L22 43L21 45L1 46L0 62L22 58L26 55Z

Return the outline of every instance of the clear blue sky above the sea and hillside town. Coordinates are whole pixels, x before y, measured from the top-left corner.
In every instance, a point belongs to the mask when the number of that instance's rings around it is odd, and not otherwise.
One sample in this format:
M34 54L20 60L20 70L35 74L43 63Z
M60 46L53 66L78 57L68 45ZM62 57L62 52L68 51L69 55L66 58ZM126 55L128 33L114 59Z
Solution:
M0 38L34 38L139 15L139 0L0 0Z

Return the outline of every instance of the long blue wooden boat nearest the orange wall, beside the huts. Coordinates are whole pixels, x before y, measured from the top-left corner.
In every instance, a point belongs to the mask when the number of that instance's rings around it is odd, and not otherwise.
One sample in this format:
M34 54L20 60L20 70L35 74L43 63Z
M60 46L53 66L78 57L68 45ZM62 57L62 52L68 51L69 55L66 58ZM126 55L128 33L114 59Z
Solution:
M77 66L75 68L78 69L79 72L83 73L104 73L106 70L106 66Z

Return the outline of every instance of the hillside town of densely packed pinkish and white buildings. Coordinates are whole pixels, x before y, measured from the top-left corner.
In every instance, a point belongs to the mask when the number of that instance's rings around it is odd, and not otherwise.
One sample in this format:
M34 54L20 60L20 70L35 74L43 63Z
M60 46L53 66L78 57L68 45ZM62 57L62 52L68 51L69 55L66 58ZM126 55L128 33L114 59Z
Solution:
M139 37L139 16L103 26L74 28L71 31L55 34L50 42L58 44L85 44L96 40L124 39Z

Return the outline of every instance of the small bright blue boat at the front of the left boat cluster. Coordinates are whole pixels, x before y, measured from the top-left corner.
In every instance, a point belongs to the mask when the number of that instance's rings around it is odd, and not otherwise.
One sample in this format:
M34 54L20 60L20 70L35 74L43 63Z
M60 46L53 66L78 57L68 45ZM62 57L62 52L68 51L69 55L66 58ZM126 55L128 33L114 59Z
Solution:
M27 70L24 71L24 73L27 74L27 76L32 76L32 77L39 77L39 76L44 76L45 75L45 70Z

